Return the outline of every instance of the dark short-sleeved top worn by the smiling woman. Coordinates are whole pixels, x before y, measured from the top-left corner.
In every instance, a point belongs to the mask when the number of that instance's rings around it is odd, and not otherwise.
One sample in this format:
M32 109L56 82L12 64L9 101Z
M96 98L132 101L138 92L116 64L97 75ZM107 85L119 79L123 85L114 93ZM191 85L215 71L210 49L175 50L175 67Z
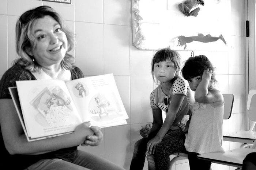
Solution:
M71 75L72 80L84 77L83 72L78 67L74 67L74 69L71 70ZM16 87L16 80L36 80L36 78L29 70L26 70L24 66L15 63L14 66L4 73L0 80L0 99L11 99L8 87ZM71 161L74 158L77 147L60 149L40 155L11 155L5 149L0 129L0 150L2 156L1 167L19 170L25 169L41 159L61 158L63 160Z

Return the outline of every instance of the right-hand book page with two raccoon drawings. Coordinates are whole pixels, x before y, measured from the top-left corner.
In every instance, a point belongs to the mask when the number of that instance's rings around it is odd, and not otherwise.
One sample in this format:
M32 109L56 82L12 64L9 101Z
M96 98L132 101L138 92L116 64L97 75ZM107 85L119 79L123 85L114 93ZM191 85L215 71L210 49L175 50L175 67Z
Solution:
M91 76L67 82L80 117L92 126L126 124L128 119L113 74Z

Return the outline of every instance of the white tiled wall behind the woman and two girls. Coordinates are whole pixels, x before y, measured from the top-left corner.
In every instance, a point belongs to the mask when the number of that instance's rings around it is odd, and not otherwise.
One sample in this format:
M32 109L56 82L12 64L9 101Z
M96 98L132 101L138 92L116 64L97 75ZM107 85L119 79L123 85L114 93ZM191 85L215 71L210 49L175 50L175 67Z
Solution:
M1 0L0 5L0 76L17 57L15 22L26 10L50 5L59 12L76 34L76 65L85 76L113 73L128 112L128 124L102 129L104 140L97 147L79 149L98 154L129 169L134 143L140 127L151 122L149 95L154 89L151 59L155 51L132 46L131 0L71 0L62 4L38 0ZM217 67L219 90L234 94L233 114L223 123L224 131L245 129L245 38L244 1L231 0L231 37L229 51L201 51ZM191 51L179 51L182 59ZM198 52L199 53L199 52ZM226 150L240 144L223 142ZM214 164L214 170L229 167ZM145 165L144 169L147 169ZM188 161L177 161L174 170L189 169ZM232 169L232 168L231 168Z

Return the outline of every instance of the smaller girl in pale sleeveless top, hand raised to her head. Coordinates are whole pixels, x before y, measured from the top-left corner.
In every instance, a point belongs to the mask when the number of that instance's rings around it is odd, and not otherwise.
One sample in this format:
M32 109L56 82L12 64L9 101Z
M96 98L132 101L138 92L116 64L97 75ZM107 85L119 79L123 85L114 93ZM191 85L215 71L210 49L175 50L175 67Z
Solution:
M198 159L197 155L210 152L223 152L222 123L224 99L222 93L214 88L217 80L214 67L204 55L190 57L182 68L183 77L195 91L195 104L189 124L181 124L182 131L188 131L185 148L188 151L189 167L208 170L211 162ZM188 128L189 125L189 128Z

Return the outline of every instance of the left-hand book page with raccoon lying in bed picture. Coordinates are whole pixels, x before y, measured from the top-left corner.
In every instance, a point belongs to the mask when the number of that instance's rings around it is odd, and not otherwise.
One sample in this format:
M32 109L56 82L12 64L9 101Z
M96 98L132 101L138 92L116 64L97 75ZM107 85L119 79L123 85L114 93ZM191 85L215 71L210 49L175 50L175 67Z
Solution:
M63 81L24 80L16 85L29 137L71 133L82 123Z

